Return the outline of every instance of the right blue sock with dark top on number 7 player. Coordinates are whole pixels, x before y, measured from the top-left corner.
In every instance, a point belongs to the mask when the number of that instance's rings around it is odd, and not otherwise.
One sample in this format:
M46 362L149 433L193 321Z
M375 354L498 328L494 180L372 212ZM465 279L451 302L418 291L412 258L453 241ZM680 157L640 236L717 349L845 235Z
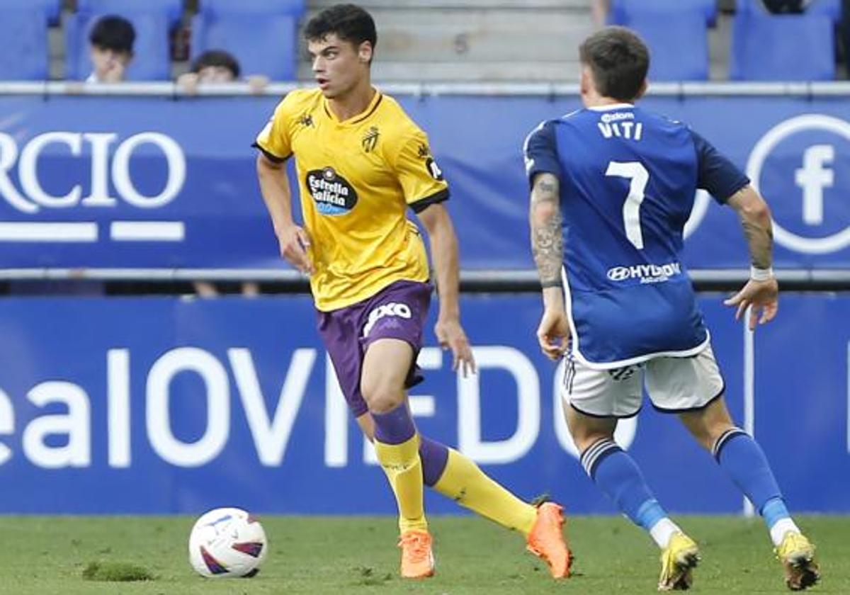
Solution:
M762 515L768 528L781 519L790 518L768 458L750 434L740 428L728 429L714 443L712 452L723 471Z

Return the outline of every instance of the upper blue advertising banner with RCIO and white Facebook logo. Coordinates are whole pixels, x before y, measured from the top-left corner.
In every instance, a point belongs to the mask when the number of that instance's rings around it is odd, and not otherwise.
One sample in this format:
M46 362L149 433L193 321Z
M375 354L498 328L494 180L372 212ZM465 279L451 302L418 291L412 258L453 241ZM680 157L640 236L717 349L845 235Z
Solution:
M399 96L449 179L464 269L531 269L521 146L575 98ZM0 261L8 268L281 269L252 140L272 97L0 99ZM850 104L650 97L750 174L773 208L775 265L850 267ZM685 263L748 266L740 226L696 201Z

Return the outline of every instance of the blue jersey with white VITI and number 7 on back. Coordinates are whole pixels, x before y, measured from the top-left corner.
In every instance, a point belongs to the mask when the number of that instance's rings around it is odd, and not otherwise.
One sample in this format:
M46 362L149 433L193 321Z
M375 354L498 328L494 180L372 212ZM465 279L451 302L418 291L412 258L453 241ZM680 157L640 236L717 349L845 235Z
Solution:
M560 181L573 355L615 368L705 348L684 224L698 188L724 202L750 180L689 127L629 104L543 122L524 152L532 182Z

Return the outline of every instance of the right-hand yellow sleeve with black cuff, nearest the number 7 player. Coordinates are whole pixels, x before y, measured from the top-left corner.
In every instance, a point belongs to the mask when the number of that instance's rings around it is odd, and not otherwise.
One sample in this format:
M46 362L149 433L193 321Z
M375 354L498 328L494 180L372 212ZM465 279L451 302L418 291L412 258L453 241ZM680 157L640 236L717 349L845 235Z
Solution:
M449 184L433 160L428 137L416 130L401 139L395 156L395 172L405 193L405 201L415 211L449 198Z

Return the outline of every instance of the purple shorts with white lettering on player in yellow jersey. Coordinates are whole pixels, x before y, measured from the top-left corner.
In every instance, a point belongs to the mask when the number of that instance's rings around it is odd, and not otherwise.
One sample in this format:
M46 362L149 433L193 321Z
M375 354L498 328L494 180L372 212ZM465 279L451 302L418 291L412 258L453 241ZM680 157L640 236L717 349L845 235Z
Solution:
M413 348L413 364L405 388L422 382L416 356L422 348L422 327L428 317L432 286L395 281L372 297L345 308L319 311L319 334L337 371L348 407L355 417L369 408L360 394L360 373L366 348L377 339L400 339Z

